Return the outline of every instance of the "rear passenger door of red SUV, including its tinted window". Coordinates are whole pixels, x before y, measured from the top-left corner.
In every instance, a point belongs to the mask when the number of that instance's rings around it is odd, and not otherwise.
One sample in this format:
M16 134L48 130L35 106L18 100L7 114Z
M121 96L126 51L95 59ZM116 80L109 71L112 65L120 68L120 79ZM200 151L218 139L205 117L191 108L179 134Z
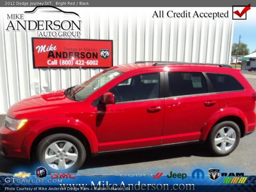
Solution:
M205 122L220 107L218 95L201 71L172 71L166 76L163 144L199 140Z

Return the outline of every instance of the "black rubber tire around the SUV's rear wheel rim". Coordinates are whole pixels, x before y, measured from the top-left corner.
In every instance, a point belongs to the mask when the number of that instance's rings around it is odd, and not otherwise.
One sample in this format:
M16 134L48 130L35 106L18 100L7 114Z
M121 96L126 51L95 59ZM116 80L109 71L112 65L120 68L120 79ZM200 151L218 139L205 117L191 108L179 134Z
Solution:
M217 133L220 131L221 128L223 127L231 127L234 129L234 131L236 132L236 140L235 140L235 143L233 144L233 146L226 150L226 151L220 151L217 149L217 147L215 146L215 137L217 135ZM214 125L212 127L212 130L209 134L209 137L208 137L208 147L209 149L211 150L212 154L215 155L215 156L226 156L226 155L229 155L232 151L234 151L240 141L240 136L241 136L241 133L240 133L240 129L239 129L239 126L233 122L233 121L223 121L223 122L220 122L216 125Z

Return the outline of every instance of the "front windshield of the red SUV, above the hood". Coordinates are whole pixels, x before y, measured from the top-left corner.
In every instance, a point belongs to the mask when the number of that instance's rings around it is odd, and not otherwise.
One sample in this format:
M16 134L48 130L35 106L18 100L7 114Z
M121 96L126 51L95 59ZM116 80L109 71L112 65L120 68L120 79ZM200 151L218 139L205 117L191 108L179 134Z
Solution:
M124 72L117 71L115 69L102 71L98 75L90 78L88 81L85 81L80 85L68 88L66 90L66 94L68 94L74 100L83 101L93 92L100 89L100 87L107 84L114 78L122 75L123 73Z

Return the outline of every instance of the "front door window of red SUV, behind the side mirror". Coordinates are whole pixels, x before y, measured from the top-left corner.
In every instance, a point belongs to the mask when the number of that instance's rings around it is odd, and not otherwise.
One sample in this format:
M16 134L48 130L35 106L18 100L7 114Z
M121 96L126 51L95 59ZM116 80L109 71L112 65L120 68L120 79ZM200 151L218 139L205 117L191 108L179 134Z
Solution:
M147 73L133 76L113 87L116 103L147 100L159 97L160 74Z

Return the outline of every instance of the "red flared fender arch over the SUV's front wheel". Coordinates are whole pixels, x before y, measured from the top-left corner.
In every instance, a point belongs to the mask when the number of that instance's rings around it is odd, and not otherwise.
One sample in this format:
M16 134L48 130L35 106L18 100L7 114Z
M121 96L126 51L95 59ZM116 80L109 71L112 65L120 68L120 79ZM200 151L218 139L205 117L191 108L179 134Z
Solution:
M72 117L54 117L50 119L44 119L34 124L33 127L31 127L31 129L29 130L26 139L24 140L25 142L22 145L22 151L25 152L25 156L27 158L30 157L30 149L36 137L40 133L55 127L68 127L76 129L77 131L83 133L84 136L87 138L92 153L97 153L99 151L99 142L97 136L92 128L90 128L87 124L84 124L84 122L79 121L79 119L75 119ZM29 148L26 146L29 146Z

